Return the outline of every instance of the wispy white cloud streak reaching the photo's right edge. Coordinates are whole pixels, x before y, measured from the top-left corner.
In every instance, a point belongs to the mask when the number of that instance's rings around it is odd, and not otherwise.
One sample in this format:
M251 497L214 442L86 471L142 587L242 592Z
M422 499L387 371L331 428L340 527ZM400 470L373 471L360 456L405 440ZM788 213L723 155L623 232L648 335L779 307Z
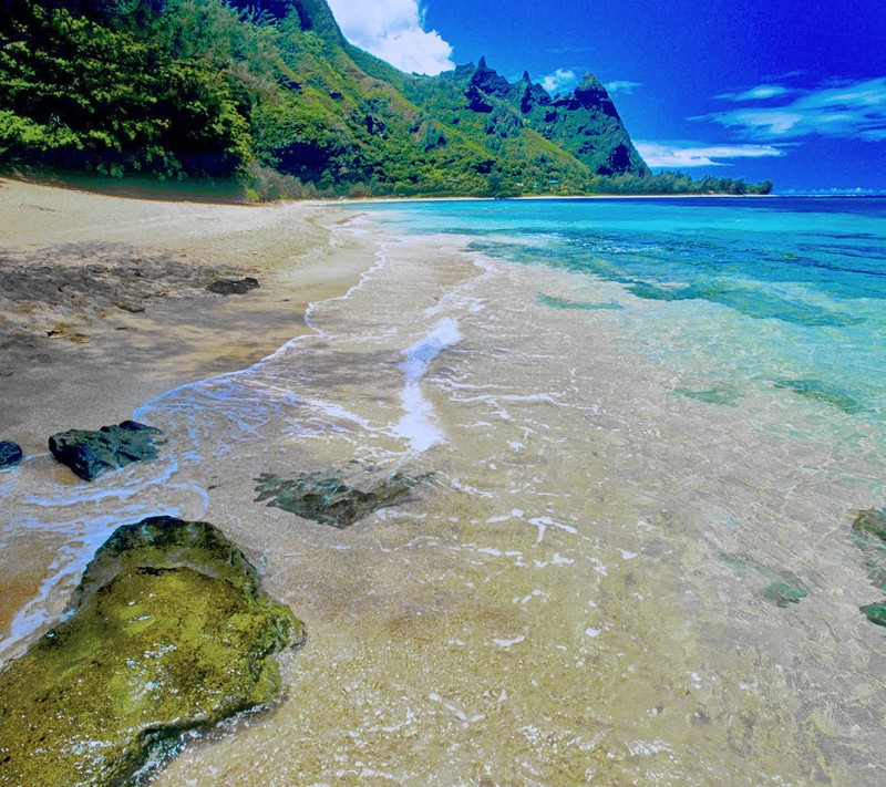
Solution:
M758 139L834 136L880 142L886 139L886 77L831 83L803 91L782 106L729 110L690 120L741 128Z

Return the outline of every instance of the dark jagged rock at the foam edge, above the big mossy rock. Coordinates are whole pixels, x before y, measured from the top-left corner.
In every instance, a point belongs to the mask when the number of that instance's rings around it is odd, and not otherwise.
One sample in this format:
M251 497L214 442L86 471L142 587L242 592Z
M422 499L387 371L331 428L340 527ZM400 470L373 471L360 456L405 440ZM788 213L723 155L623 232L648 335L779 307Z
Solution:
M60 432L49 438L49 449L83 480L93 480L102 473L133 462L156 459L156 437L162 434L159 429L137 421L124 421L117 426L102 426L97 432Z

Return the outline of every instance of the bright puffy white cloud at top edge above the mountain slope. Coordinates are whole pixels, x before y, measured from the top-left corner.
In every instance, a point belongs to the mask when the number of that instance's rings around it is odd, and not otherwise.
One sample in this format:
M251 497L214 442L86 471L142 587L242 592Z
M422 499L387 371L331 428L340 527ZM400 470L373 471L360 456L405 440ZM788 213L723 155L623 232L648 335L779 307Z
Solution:
M421 0L328 0L352 44L412 73L439 74L455 68L452 46L436 30L424 30Z

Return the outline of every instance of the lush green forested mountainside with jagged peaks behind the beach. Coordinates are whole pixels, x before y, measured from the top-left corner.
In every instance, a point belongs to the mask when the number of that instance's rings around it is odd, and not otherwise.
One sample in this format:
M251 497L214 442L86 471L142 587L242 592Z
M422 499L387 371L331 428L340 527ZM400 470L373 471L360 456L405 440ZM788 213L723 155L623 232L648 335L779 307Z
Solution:
M324 0L0 11L6 163L236 177L269 198L767 190L651 176L590 75L552 97L483 61L403 74L348 44Z

